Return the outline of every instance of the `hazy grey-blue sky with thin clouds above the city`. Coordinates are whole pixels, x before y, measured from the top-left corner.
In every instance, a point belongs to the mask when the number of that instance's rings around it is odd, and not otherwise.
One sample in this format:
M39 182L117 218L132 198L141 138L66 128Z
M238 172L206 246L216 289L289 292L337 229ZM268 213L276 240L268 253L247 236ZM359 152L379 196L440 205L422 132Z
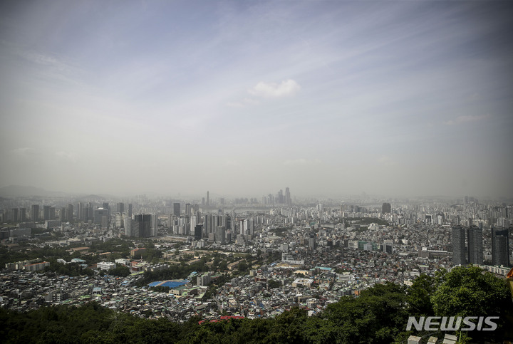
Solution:
M0 187L513 196L513 4L1 1Z

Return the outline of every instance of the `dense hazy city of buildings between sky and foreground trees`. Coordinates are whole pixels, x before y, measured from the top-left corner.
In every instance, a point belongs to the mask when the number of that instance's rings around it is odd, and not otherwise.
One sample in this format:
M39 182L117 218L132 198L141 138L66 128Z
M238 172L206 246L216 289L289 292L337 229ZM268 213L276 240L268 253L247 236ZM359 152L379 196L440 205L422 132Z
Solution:
M4 197L1 306L97 301L179 323L294 307L316 316L343 296L412 286L441 269L509 272L513 204L467 196L307 203L284 189L261 199ZM18 255L31 259L6 261Z

